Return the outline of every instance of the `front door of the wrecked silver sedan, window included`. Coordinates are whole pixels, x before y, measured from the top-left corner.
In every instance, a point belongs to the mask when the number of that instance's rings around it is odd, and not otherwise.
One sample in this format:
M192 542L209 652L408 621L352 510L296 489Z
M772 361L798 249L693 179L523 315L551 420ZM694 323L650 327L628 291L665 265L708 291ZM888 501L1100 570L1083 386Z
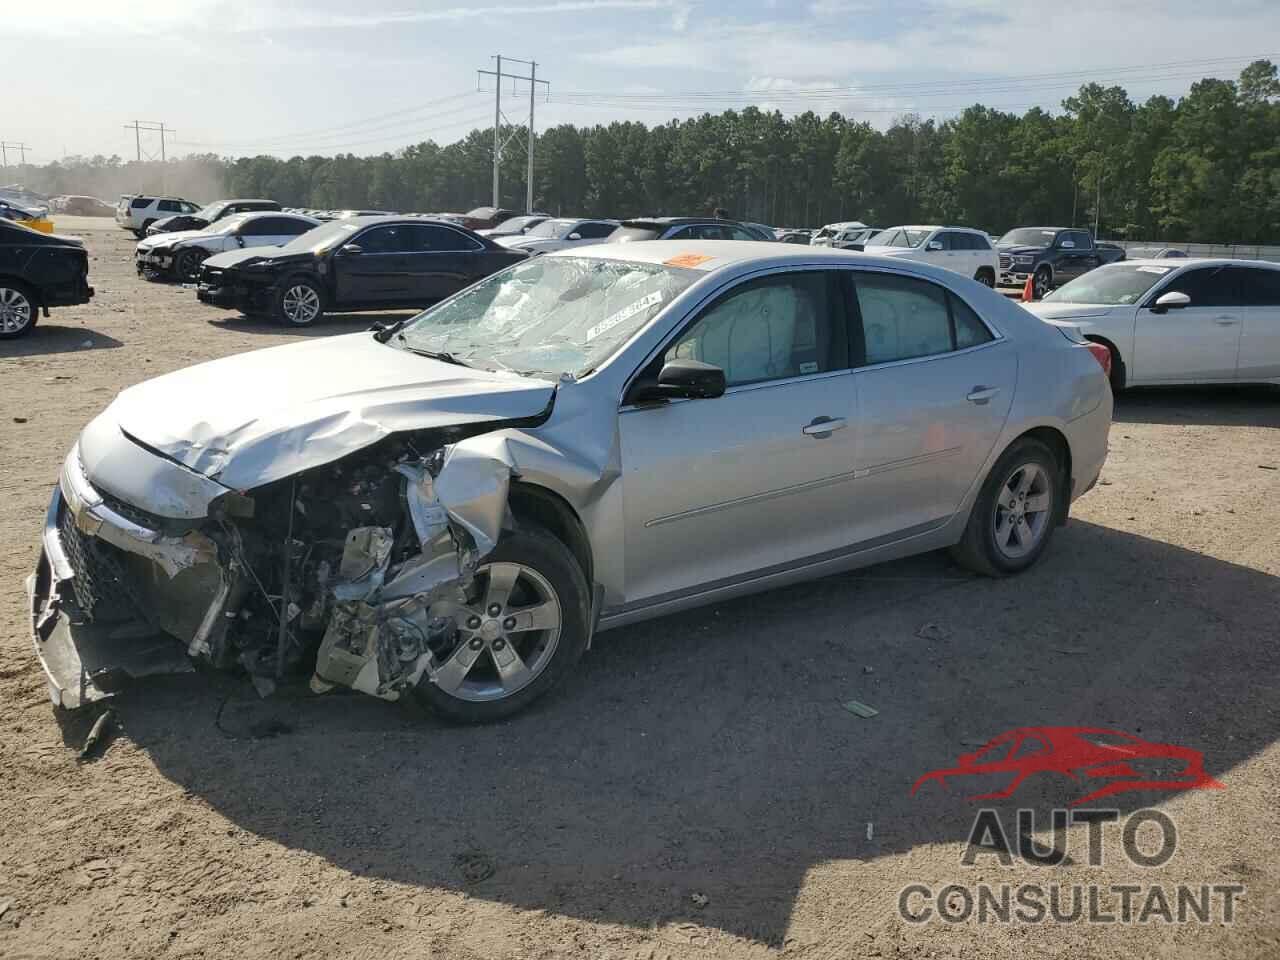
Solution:
M645 370L700 360L727 389L620 411L627 603L849 545L856 419L838 291L835 270L742 282Z

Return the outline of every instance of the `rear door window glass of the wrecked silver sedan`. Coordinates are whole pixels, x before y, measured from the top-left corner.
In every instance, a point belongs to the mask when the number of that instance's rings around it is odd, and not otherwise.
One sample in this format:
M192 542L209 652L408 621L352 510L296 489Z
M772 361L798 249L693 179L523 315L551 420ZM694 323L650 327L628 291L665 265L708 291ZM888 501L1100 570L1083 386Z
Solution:
M910 276L859 273L855 289L868 364L931 357L956 349L948 294L942 287ZM966 337L980 337L983 332L978 323L977 330ZM991 334L977 342L983 339L989 340Z

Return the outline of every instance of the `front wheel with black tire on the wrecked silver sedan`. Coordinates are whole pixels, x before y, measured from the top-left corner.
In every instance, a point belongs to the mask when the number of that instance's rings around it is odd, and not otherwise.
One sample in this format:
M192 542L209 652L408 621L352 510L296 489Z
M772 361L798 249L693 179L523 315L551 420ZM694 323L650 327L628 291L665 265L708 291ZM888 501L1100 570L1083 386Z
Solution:
M500 584L498 593L490 594L495 571L515 584L506 595ZM474 589L475 599L454 613L458 645L439 658L434 677L424 676L411 691L420 707L456 723L492 723L549 692L582 657L590 630L590 591L582 568L570 549L540 526L525 524L506 532L477 568ZM500 609L485 607L490 598L502 599ZM507 625L516 622L508 612L518 616L532 609L556 626L507 632ZM516 671L527 675L513 672L509 691L497 666L508 640L509 650L518 654Z

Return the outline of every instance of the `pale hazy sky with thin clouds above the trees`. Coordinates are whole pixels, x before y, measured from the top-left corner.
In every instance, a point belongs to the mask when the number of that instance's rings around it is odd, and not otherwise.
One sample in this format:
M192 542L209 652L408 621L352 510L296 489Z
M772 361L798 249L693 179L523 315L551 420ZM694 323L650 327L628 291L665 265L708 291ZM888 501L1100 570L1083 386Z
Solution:
M975 101L1057 110L1082 82L1179 96L1280 63L1277 0L0 0L0 140L32 163L375 154L493 123L494 55L550 82L536 128L750 104L886 127ZM513 64L522 72L529 68ZM504 84L524 123L529 87ZM142 150L159 156L155 133Z

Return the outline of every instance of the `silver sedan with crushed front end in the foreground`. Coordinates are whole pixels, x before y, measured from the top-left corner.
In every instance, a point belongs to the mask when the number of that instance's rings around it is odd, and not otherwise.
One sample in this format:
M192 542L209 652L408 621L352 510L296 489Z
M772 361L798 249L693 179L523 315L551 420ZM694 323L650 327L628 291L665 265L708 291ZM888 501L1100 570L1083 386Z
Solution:
M1024 570L1110 416L1074 329L954 273L553 253L120 393L49 506L36 653L65 708L206 662L492 721L612 626L938 548Z

